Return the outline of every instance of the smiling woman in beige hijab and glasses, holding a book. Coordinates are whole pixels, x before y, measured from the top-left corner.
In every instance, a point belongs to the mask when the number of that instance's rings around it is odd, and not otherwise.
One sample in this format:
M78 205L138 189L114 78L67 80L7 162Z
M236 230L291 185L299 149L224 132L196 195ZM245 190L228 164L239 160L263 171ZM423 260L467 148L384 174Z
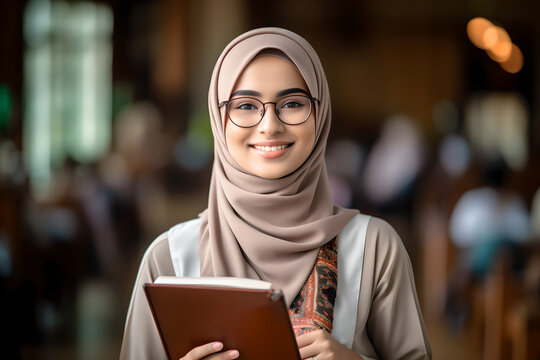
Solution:
M121 358L164 357L142 290L160 275L271 282L290 306L303 359L431 358L401 240L386 222L333 205L330 94L313 48L278 28L242 34L218 59L208 99L208 209L147 250ZM183 359L241 355L226 348L201 344Z

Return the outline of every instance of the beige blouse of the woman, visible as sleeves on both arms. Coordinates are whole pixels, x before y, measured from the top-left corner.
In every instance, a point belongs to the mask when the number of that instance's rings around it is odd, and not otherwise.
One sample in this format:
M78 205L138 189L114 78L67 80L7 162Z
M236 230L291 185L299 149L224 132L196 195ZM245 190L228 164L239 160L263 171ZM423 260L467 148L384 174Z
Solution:
M175 275L167 233L154 240L142 260L120 359L166 358L142 288L160 275ZM340 286L347 284L340 281ZM392 226L377 218L367 226L352 350L364 359L431 359L409 256Z

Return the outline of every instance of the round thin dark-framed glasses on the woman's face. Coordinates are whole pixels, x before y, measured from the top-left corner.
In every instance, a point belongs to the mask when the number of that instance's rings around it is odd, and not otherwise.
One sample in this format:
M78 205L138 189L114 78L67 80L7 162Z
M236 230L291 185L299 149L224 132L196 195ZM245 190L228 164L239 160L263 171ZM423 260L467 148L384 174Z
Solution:
M285 96L278 101L263 103L252 97L239 97L219 103L219 107L227 106L229 119L238 127L249 128L261 122L266 112L266 105L273 104L276 116L287 125L300 125L305 122L312 111L312 104L320 101L304 95Z

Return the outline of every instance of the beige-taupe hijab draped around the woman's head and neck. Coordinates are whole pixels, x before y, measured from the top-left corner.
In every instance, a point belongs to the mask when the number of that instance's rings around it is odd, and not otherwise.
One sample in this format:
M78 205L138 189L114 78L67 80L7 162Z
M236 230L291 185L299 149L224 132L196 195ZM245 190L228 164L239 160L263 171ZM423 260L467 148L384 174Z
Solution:
M225 119L219 109L249 62L262 50L283 52L297 67L316 106L316 139L311 155L294 172L264 179L243 170L229 153ZM272 51L270 51L272 52ZM262 279L282 289L291 304L317 258L357 213L334 206L324 161L330 131L328 83L311 45L279 28L248 31L219 57L208 92L214 134L214 166L208 209L201 213L201 276Z

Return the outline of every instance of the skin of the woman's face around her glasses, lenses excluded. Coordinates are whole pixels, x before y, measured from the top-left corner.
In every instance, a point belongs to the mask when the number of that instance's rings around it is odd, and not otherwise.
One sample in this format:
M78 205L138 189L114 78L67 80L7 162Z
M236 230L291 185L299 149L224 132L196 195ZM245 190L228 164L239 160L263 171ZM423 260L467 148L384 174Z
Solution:
M242 72L231 99L250 96L278 101L280 93L309 94L307 85L296 68L275 56L255 58ZM303 92L302 92L303 91ZM222 116L226 116L222 112ZM227 148L245 171L266 179L289 175L304 163L315 144L315 111L302 124L287 125L276 116L273 104L266 105L262 120L250 128L236 126L226 117Z

